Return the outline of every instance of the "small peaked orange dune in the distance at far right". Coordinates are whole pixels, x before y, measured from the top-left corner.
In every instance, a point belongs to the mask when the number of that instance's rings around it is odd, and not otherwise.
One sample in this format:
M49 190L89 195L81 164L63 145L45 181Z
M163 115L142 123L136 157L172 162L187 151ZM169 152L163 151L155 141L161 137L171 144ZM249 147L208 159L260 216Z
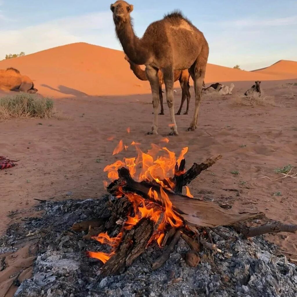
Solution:
M297 77L297 62L280 60L269 67L253 70L253 72L272 74L272 75L288 75L291 78L292 74Z

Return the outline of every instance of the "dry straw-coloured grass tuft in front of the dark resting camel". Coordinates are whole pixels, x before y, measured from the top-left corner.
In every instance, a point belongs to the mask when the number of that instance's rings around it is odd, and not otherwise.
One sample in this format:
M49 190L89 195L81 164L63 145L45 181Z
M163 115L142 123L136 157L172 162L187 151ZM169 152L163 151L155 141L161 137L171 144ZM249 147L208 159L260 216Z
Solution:
M249 95L238 95L234 100L235 105L239 106L277 106L273 96L265 96L262 94L259 96L259 93L253 91Z

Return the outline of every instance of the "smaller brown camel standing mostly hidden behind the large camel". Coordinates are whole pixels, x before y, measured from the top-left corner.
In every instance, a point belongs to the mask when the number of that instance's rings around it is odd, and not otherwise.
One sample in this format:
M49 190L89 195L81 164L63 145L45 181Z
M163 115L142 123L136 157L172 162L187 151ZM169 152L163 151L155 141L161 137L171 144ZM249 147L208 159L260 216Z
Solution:
M132 61L129 60L128 56L125 56L125 60L127 60L130 64L130 69L133 71L135 76L140 79L140 80L148 80L146 77L146 72L145 70L140 68L140 65L133 63ZM161 70L158 70L158 78L159 78L159 100L161 104L161 112L159 113L160 115L164 115L164 107L163 107L163 94L162 94L162 84L164 84L164 77L163 73ZM176 113L176 115L181 114L181 109L184 105L184 101L186 100L187 97L187 109L184 112L184 114L188 114L189 112L189 103L191 99L191 94L190 94L190 84L189 84L189 78L190 74L188 69L184 70L174 70L173 72L173 80L177 81L179 80L179 83L181 85L181 106Z

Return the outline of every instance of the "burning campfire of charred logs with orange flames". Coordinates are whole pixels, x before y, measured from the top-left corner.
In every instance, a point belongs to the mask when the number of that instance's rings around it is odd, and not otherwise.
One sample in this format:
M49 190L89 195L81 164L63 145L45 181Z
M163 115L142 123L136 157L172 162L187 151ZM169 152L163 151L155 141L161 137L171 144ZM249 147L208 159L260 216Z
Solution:
M198 252L202 247L222 252L213 244L209 232L217 226L233 225L246 236L276 229L296 230L294 225L279 222L250 228L239 222L264 217L262 213L238 214L227 211L216 203L195 199L187 184L219 160L222 157L220 154L200 164L194 163L186 170L184 156L188 151L187 147L177 157L166 147L152 144L151 149L144 153L139 145L134 141L130 144L130 147L135 148L137 156L116 160L104 168L110 180L109 184L105 181L105 187L116 197L113 205L110 205L112 216L95 224L89 222L89 233L84 237L110 246L108 253L87 252L89 257L104 263L102 275L123 271L154 243L164 249L152 265L155 270L165 263L180 237L190 247L186 262L195 267L199 263ZM124 149L127 151L127 148L120 140L113 155ZM186 195L182 194L183 187Z

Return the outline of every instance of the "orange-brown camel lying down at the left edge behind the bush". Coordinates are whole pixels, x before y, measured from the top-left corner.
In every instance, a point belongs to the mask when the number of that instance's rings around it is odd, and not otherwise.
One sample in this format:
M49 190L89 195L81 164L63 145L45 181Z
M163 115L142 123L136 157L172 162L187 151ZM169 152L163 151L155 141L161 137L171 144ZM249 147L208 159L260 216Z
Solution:
M18 69L0 69L0 89L36 93L33 81L26 75L21 75Z

